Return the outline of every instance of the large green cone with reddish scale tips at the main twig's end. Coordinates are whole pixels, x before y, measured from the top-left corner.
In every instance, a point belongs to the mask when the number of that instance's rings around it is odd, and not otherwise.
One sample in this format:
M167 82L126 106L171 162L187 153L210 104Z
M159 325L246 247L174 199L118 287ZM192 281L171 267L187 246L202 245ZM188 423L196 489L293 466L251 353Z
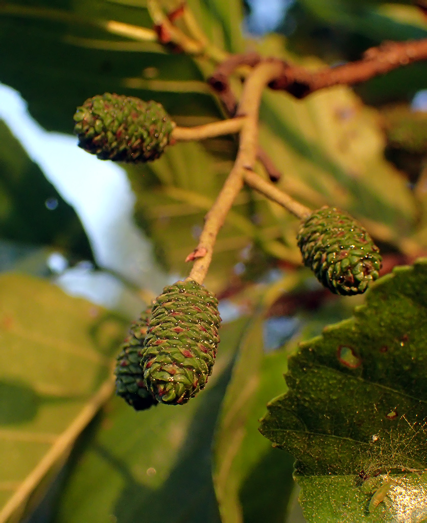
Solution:
M219 343L218 300L196 281L177 281L152 306L141 367L161 403L186 403L204 389Z

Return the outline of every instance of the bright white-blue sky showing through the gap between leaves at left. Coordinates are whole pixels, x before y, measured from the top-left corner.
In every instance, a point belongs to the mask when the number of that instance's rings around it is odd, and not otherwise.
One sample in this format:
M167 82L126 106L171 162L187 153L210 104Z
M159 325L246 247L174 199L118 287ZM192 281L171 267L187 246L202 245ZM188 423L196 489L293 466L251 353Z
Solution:
M135 198L124 170L79 149L76 137L45 131L31 118L19 93L4 84L0 84L0 118L74 206L98 263L155 292L161 290L165 276L156 269L150 243L133 222ZM52 257L53 268L64 262L58 255ZM68 291L106 306L122 299L122 286L115 278L93 275L87 266L66 271L58 280Z

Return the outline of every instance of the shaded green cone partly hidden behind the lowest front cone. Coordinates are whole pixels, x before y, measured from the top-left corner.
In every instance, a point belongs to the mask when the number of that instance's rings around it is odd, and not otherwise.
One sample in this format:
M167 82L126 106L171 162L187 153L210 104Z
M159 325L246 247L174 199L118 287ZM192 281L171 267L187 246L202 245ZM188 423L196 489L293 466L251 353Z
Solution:
M149 315L150 309L147 309L141 313L139 320L132 324L129 335L120 347L114 370L117 395L123 397L136 411L144 411L158 403L147 390L144 372L139 365L144 353L143 344Z

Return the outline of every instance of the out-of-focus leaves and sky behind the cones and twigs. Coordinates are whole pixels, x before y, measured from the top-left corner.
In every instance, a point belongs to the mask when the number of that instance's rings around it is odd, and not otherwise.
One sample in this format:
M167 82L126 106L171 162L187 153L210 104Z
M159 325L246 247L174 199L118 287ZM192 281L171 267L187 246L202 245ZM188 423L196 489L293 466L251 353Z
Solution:
M410 2L188 5L219 48L307 67L427 36ZM99 395L129 322L186 277L236 150L211 139L129 166L78 149L75 108L103 92L160 101L185 126L224 116L204 82L213 64L138 39L135 26L152 26L144 0L0 5L0 522L303 521L292 458L272 453L257 419L286 390L296 341L361 301L299 269L298 223L276 204L245 189L218 237L206 285L224 327L208 389L144 413ZM279 187L352 213L390 268L427 249L426 111L420 62L303 101L268 92L260 141ZM93 398L104 411L80 435Z

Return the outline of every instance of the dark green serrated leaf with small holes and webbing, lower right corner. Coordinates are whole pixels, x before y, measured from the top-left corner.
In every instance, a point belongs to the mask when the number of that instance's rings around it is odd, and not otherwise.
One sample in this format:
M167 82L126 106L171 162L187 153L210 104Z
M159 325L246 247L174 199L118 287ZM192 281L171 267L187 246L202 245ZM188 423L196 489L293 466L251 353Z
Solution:
M268 405L261 430L295 456L307 521L427 518L426 308L420 259L379 279L353 318L289 360L289 392Z

